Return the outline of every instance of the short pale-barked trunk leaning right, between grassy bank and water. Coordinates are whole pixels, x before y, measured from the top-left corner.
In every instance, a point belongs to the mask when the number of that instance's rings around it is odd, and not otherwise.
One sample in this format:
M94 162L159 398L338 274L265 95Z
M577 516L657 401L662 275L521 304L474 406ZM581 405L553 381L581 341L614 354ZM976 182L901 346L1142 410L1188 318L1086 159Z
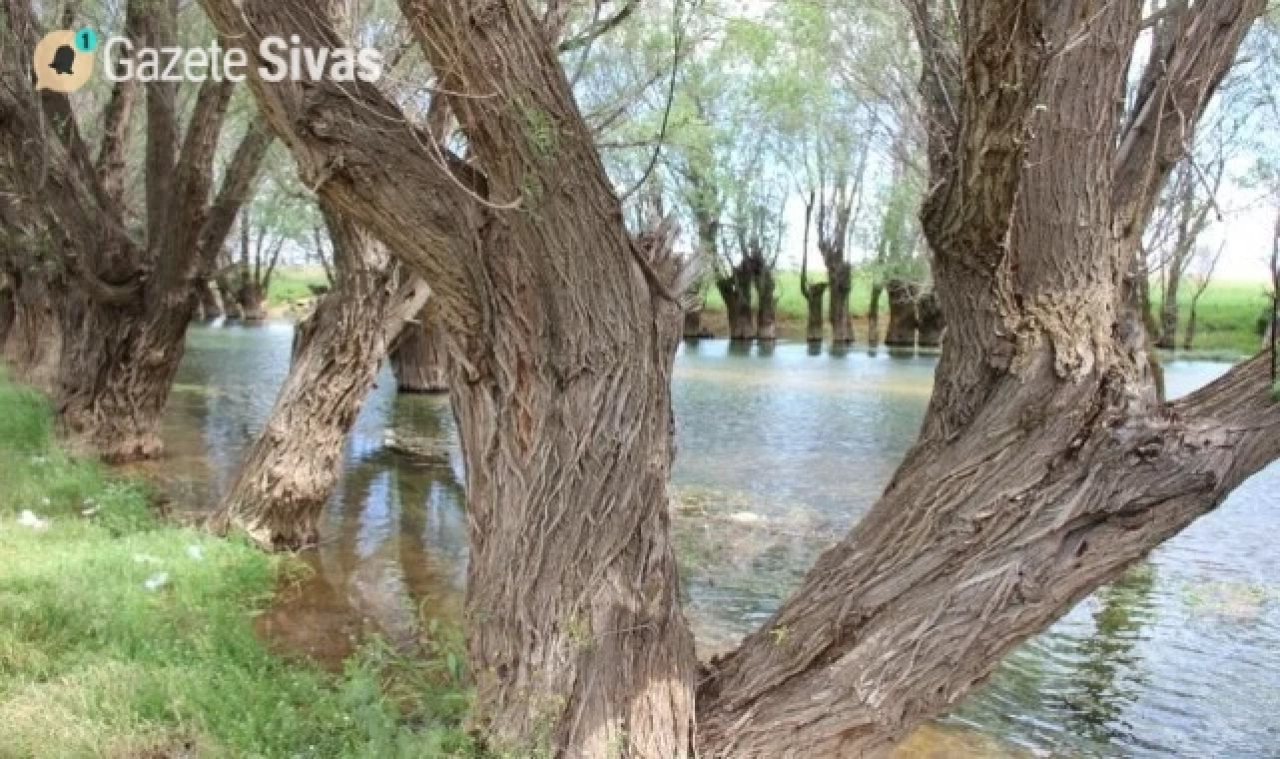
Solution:
M325 214L338 270L334 288L298 324L293 364L266 426L219 504L214 529L237 530L268 549L319 539L343 443L374 387L388 346L426 302L367 236Z

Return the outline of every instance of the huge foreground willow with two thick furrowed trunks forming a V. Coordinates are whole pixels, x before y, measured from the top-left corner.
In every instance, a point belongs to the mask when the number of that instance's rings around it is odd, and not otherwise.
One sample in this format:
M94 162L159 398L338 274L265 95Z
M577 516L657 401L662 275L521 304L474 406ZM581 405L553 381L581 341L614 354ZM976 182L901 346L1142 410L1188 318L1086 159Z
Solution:
M340 45L321 0L201 0L256 45ZM559 4L549 4L553 9ZM403 0L466 136L376 87L252 87L310 187L420 273L467 463L475 723L564 756L865 756L1280 457L1266 356L1165 404L1124 274L1180 133L1262 0L1170 6L1116 108L1142 4L964 1L915 22L951 330L920 438L782 608L699 668L669 540L685 273L634 239L522 0ZM287 515L282 515L287 518Z

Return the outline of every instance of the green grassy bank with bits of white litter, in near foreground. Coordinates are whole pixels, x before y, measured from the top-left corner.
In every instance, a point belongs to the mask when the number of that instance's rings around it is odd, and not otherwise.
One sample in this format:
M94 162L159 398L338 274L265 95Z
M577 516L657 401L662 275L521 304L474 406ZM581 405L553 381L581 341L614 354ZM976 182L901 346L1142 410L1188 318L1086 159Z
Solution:
M456 673L270 653L252 617L298 564L166 523L3 375L0 472L0 756L475 755Z

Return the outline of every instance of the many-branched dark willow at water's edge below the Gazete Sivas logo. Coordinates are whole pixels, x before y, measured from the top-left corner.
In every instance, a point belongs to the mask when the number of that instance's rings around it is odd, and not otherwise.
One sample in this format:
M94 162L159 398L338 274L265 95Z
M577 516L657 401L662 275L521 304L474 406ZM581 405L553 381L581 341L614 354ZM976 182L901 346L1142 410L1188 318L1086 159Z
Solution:
M219 138L236 83L206 79L183 132L177 83L128 79L106 100L95 157L69 99L35 90L31 60L42 29L31 1L4 0L0 9L13 42L0 51L0 151L13 172L8 184L40 209L54 253L56 275L46 287L58 319L46 320L44 332L56 332L63 346L55 388L60 426L73 444L108 461L155 456L198 301L196 284L250 193L270 132L248 119L215 193ZM136 47L169 47L178 38L172 3L131 0L125 17ZM68 15L61 26L73 22ZM146 111L141 230L124 182L136 106Z

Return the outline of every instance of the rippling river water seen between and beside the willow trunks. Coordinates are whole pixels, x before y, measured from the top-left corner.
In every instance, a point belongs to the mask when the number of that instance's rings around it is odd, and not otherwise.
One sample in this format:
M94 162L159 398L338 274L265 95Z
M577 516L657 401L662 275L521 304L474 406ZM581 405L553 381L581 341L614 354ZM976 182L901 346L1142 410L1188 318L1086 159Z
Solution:
M147 471L207 508L264 422L292 326L193 328ZM732 645L870 507L915 436L932 357L685 347L676 362L676 541L699 649ZM1171 394L1228 369L1167 366ZM369 632L408 644L456 618L467 554L448 401L383 375L306 558L260 619L333 664ZM908 756L1280 756L1280 466L1016 650Z

